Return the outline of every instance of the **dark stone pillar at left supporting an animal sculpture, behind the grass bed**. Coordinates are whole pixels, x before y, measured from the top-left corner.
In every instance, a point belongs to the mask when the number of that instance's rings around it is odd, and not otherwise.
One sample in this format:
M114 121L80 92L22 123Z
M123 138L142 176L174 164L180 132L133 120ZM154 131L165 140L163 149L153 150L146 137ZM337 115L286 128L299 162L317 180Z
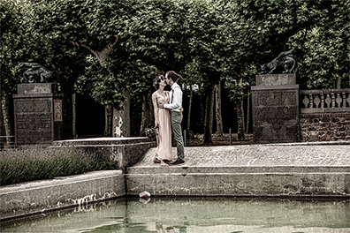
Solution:
M15 143L51 144L61 139L62 101L53 83L18 85L13 94Z

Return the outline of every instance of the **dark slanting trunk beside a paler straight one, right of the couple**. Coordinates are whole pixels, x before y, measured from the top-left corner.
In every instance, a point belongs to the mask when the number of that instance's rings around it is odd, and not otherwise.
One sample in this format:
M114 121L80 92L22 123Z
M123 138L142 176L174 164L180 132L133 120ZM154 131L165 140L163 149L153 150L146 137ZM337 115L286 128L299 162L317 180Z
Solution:
M209 87L207 91L207 101L206 101L206 109L205 109L205 119L204 119L204 143L212 143L211 134L213 132L213 109L214 109L214 85Z

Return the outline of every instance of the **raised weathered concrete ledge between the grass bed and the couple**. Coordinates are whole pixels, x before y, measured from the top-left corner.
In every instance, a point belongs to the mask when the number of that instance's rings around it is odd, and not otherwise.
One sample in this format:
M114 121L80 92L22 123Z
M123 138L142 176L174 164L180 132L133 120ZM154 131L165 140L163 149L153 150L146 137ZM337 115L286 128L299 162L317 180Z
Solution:
M115 162L116 169L125 169L139 162L156 142L142 138L96 138L54 141L53 147L75 147L87 154L101 154Z

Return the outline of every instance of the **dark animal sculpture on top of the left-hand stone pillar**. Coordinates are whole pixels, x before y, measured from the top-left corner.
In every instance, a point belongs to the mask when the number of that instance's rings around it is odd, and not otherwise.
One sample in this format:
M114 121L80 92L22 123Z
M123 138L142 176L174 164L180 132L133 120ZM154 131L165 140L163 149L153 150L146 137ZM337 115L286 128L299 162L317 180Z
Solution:
M47 70L41 64L20 63L19 69L23 71L21 83L44 82L52 76L52 71Z

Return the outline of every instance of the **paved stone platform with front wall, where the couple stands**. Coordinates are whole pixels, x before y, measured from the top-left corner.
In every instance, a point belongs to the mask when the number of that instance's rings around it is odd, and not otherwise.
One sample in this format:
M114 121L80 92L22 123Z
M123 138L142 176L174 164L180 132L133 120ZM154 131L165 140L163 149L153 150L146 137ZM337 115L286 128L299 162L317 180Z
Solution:
M127 169L128 195L350 198L349 144L186 147L171 167L154 154Z

